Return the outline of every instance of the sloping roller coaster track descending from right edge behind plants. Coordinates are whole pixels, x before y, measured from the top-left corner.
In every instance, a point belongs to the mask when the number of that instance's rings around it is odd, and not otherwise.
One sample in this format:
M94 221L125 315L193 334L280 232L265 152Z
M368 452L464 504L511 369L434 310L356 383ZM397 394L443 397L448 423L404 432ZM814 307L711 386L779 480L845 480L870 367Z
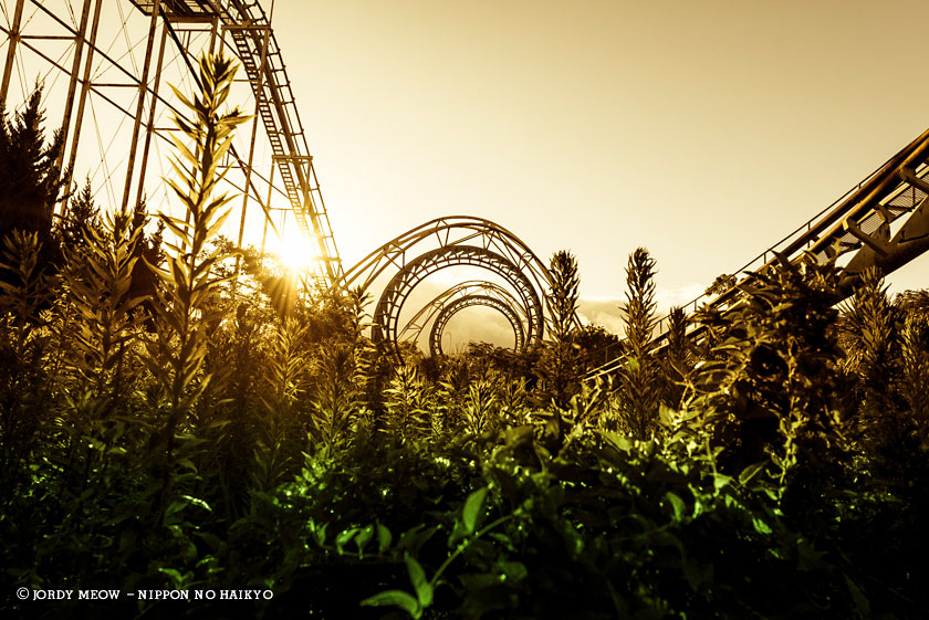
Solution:
M763 273L779 262L779 255L793 262L810 252L821 263L836 260L847 297L868 267L876 266L887 275L929 251L927 197L929 129L835 202L733 273ZM704 304L724 312L743 295L738 285L729 286L717 295L704 293L686 304L685 309L693 312ZM660 349L668 335L666 318L658 323L656 332L653 346ZM689 335L699 337L700 327L693 327ZM618 356L595 368L586 379L615 372L624 359Z

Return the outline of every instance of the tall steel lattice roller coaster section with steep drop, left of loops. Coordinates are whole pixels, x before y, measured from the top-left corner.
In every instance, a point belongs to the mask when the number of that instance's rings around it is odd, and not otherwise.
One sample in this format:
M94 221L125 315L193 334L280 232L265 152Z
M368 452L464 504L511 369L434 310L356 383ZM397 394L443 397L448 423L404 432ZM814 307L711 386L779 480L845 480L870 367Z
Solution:
M38 74L46 125L65 133L62 164L74 179L86 175L105 207L146 200L154 211L167 201L159 186L170 117L184 115L167 84L194 92L202 53L233 54L241 70L230 104L255 118L222 162L227 191L242 195L239 218L230 219L238 230L225 232L241 245L247 230L255 242L263 229L263 246L269 228L282 234L290 217L313 246L312 275L328 286L342 264L271 18L244 0L4 2L0 99L24 101Z

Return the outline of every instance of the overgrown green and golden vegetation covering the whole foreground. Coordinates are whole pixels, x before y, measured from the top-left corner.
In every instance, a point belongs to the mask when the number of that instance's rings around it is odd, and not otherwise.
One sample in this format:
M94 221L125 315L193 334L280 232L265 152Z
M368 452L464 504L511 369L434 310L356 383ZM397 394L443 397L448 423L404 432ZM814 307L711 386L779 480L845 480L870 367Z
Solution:
M782 261L699 313L699 339L672 311L658 349L639 249L626 364L592 385L617 343L570 320L562 252L543 350L392 368L362 292L296 295L244 251L231 285L232 73L201 63L174 182L190 217L161 219L164 251L143 209L88 191L66 225L6 238L4 617L925 617L929 294L869 273L839 311L834 265ZM125 596L246 588L273 598Z

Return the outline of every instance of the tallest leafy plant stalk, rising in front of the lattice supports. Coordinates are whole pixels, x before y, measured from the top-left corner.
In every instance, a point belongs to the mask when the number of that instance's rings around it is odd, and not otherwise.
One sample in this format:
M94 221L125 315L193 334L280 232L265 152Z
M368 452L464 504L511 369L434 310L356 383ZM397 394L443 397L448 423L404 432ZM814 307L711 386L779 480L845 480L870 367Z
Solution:
M209 376L201 372L207 332L210 323L221 318L217 314L220 311L211 302L219 295L222 283L229 280L229 276L211 273L226 256L219 249L210 252L207 242L229 217L230 209L225 207L232 199L225 193L213 197L225 176L225 171L218 172L217 168L232 144L233 129L249 118L238 108L225 114L220 112L234 74L231 59L208 54L200 60L200 92L192 102L173 87L192 114L192 122L176 116L175 123L180 134L192 141L194 148L189 148L182 138L174 138L177 155L171 158L171 167L177 178L167 179L167 182L184 204L187 218L181 220L159 213L175 240L166 242L166 269L149 264L161 282L155 304L159 330L168 335L168 338L159 337L152 343L148 356L148 367L163 388L166 409L160 437L156 440L165 455L159 522L170 495L177 428L209 382Z

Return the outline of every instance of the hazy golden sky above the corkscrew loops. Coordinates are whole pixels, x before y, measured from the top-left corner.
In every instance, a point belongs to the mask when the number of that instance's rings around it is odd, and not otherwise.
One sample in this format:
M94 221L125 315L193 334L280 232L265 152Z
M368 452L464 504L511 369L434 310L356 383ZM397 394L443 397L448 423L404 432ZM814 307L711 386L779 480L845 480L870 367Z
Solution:
M346 267L482 217L545 262L571 250L614 332L636 248L659 305L687 302L929 126L925 2L262 4ZM929 256L888 282L929 286ZM509 328L473 308L450 329Z

